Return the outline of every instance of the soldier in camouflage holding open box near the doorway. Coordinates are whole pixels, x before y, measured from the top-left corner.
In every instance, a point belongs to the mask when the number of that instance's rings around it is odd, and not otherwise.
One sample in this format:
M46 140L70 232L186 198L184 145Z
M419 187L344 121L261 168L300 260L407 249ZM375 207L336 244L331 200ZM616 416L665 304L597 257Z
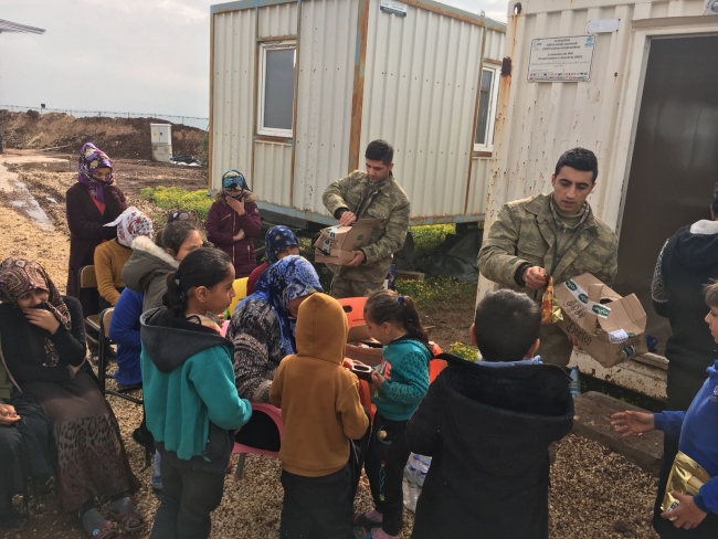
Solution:
M585 201L599 166L592 151L563 154L551 176L553 192L501 207L478 253L484 277L525 292L540 303L548 276L559 284L582 273L611 286L617 272L619 239ZM541 326L538 353L566 366L572 342L558 327Z

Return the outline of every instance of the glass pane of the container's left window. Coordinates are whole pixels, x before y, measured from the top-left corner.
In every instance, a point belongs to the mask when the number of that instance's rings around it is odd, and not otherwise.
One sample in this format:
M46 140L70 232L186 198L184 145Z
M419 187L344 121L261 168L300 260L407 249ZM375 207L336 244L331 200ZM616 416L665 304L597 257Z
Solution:
M294 49L266 51L264 127L292 129L294 112Z

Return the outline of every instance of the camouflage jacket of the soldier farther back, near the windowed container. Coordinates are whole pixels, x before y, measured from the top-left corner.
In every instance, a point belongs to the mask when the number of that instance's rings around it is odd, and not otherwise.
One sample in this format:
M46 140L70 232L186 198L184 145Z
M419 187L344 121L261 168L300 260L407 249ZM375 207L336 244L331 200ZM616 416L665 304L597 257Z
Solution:
M357 219L381 219L371 233L369 245L363 247L367 261L359 267L327 266L336 274L351 281L378 283L383 281L391 265L392 255L400 251L409 229L410 202L393 176L381 189L372 193L366 172L355 170L349 176L331 182L321 198L332 215L347 208Z

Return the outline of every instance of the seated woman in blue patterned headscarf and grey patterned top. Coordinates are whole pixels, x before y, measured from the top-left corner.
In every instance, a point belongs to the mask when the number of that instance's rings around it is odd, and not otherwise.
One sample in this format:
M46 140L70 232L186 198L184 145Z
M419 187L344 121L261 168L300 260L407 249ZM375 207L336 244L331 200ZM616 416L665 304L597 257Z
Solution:
M256 283L254 294L236 307L226 331L234 345L234 376L240 397L270 402L270 388L286 356L296 353L294 328L304 299L324 292L314 266L298 255L282 258L270 266ZM274 422L255 413L236 441L267 451L279 450Z

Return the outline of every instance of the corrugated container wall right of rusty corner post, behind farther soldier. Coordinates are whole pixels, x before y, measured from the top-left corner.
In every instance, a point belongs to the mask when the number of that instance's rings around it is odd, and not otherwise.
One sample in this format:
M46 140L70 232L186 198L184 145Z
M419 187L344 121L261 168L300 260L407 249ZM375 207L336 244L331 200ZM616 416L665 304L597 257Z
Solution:
M394 145L414 216L464 213L483 32L412 6L390 15L371 0L361 148Z

